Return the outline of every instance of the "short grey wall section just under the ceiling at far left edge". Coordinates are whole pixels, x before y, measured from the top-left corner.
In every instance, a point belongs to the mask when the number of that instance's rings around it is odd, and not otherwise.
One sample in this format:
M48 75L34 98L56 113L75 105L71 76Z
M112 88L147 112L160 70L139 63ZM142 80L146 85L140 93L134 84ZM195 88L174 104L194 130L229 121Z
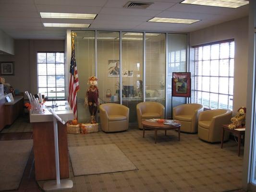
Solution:
M14 40L0 30L0 51L14 55Z

